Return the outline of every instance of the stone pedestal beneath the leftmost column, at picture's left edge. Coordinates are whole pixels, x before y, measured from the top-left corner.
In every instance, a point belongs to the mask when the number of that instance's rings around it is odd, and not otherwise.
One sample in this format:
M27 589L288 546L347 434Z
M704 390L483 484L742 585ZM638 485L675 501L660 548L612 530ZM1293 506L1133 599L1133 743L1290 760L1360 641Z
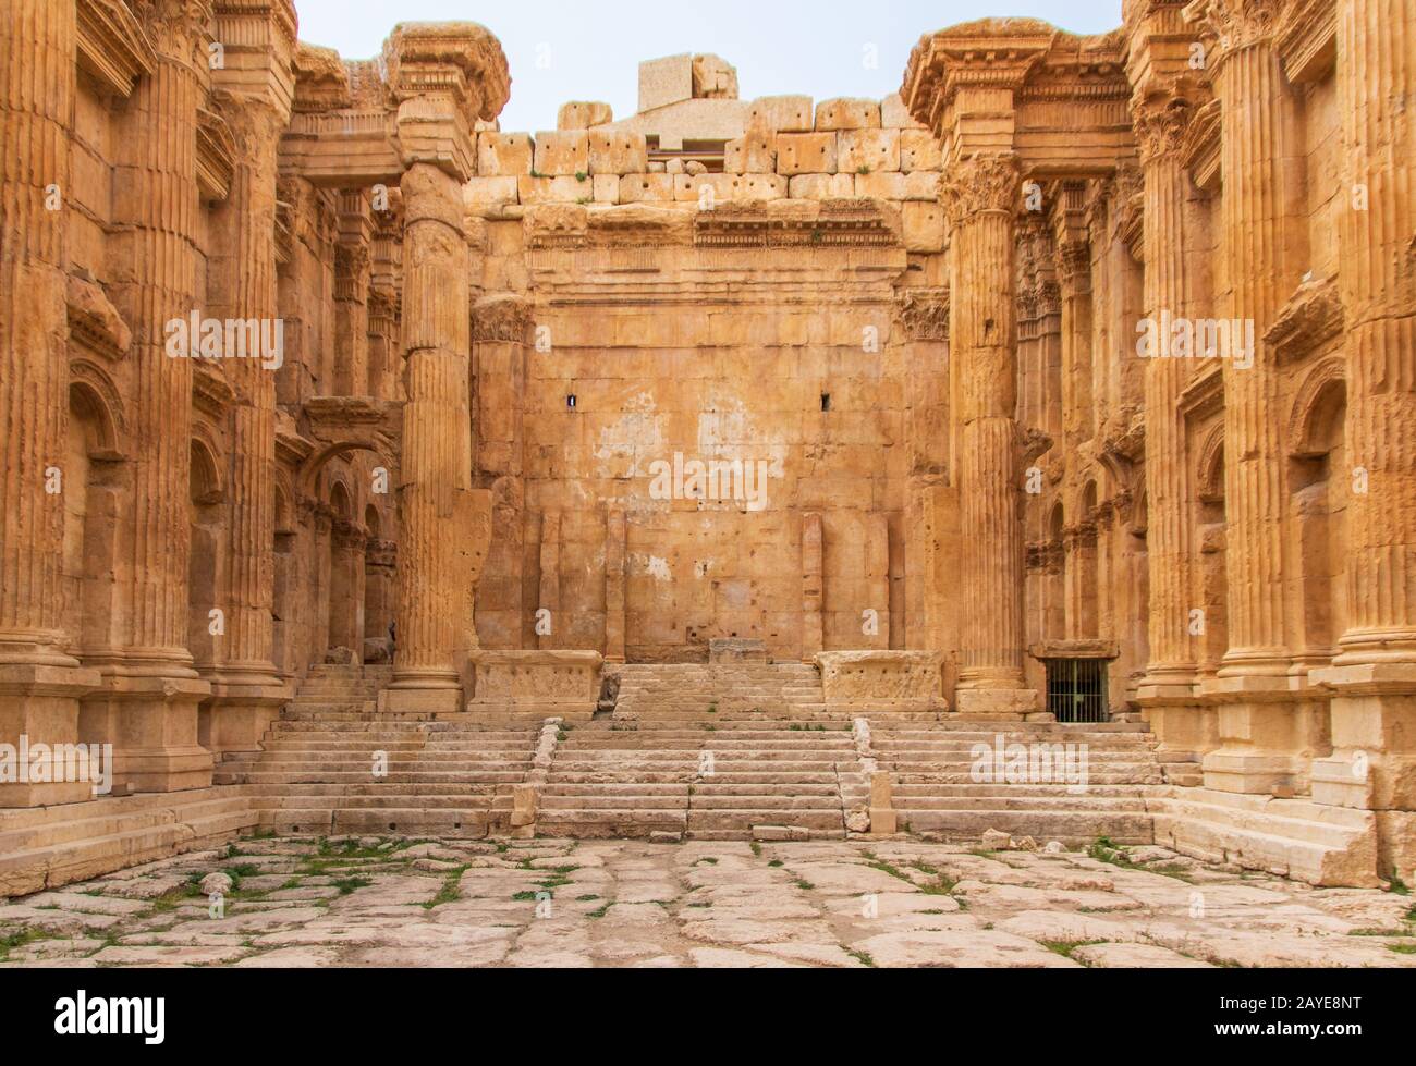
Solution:
M84 667L50 664L0 664L0 745L13 745L0 755L0 807L48 807L61 803L85 803L95 797L93 770L110 770L109 763L88 769L89 780L34 780L34 745L50 752L61 745L75 745L79 736L79 698L96 688L99 672ZM21 762L28 763L21 766ZM68 760L44 760L41 773L57 776ZM75 769L81 769L75 767Z

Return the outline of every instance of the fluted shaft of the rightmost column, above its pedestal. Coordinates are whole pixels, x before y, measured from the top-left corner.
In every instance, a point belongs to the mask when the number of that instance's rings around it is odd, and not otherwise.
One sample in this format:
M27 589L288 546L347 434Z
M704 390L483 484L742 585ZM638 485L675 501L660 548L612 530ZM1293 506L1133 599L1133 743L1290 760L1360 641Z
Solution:
M1351 497L1340 661L1416 658L1416 20L1403 0L1338 3L1351 193L1340 212ZM1399 105L1398 102L1403 102Z

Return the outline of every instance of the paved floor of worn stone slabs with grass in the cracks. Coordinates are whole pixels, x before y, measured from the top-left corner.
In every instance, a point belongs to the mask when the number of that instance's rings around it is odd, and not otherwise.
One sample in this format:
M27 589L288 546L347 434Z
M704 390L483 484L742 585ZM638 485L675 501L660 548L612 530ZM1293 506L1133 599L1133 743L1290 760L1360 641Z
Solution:
M208 889L225 872L221 916ZM205 888L202 881L207 879ZM4 965L1416 965L1406 895L1161 848L245 839L0 900Z

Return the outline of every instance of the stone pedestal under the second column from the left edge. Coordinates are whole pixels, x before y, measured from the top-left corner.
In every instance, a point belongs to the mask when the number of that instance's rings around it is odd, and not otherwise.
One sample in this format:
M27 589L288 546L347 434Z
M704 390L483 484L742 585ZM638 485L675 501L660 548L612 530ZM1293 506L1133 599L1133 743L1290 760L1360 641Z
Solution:
M79 739L113 745L115 794L211 787L211 752L197 739L197 708L211 685L194 672L149 670L101 668L98 691L79 708Z

